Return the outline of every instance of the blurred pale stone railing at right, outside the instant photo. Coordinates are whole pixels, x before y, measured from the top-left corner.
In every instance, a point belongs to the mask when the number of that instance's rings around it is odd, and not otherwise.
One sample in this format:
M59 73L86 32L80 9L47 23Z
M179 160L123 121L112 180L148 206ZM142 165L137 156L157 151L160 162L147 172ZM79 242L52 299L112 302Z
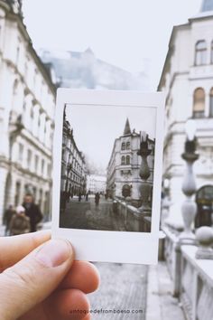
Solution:
M188 320L213 319L213 260L196 259L197 245L181 244L168 226L163 228L164 259L169 269L172 295L179 297Z

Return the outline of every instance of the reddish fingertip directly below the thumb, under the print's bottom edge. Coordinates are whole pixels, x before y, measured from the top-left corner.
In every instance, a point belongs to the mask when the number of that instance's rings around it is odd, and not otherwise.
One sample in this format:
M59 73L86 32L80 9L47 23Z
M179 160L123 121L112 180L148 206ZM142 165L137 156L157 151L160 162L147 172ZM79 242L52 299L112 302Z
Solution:
M97 268L87 261L74 261L60 288L77 288L88 294L99 286L100 278Z

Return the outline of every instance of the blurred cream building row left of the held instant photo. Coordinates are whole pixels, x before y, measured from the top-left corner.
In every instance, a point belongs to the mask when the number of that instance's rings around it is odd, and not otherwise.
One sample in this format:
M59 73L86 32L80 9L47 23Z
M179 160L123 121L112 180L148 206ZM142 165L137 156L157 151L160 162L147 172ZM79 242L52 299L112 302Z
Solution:
M0 1L0 218L33 193L51 211L55 86L32 48L21 1Z

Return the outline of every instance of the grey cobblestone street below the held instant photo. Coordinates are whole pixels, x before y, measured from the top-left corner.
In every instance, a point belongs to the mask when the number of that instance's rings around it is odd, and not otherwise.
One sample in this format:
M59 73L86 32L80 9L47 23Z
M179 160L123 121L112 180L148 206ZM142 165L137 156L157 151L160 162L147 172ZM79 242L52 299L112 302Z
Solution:
M92 313L92 319L119 320L145 319L147 267L144 265L96 263L101 277L97 292L88 295L91 310L106 310L107 313ZM109 310L125 310L128 313L110 313ZM129 310L129 311L128 311Z

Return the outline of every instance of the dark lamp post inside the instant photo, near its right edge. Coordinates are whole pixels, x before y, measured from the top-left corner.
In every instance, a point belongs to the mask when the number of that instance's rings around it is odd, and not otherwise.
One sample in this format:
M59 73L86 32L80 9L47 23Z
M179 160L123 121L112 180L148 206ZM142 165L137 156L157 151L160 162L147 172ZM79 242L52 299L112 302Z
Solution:
M151 149L149 149L148 146L148 138L145 133L141 136L141 144L140 149L137 152L137 155L141 155L142 157L142 163L139 171L139 175L142 178L142 184L139 187L140 193L141 193L141 202L142 205L138 210L140 212L143 212L146 215L151 215L151 207L149 204L149 197L151 194L152 186L147 182L148 178L150 177L150 168L147 163L147 156L150 155L152 152Z

